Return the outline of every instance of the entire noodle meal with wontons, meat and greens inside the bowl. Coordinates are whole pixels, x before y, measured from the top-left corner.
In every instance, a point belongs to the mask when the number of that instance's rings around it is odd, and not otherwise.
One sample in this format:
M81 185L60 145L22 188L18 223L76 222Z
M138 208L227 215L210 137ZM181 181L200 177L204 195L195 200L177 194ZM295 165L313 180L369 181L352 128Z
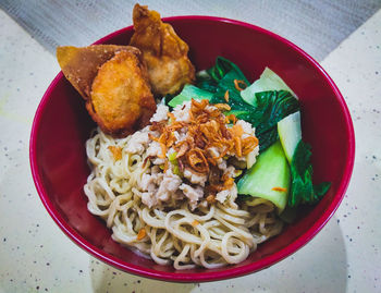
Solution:
M312 185L298 100L270 69L250 84L222 57L195 76L187 45L145 7L134 27L130 46L58 50L99 125L88 209L157 264L238 264L329 188Z

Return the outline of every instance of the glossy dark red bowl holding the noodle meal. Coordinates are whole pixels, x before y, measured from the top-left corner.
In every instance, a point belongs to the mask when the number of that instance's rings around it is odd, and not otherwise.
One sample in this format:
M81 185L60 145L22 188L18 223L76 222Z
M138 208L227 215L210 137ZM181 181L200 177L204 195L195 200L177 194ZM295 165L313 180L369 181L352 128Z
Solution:
M37 109L30 134L30 166L37 192L62 231L93 256L126 272L165 281L216 281L267 268L308 243L339 207L355 157L355 136L345 101L329 75L294 44L260 27L209 16L164 19L189 45L197 70L217 56L235 62L249 81L266 66L275 71L300 100L303 136L312 145L314 179L332 182L323 199L305 209L284 231L259 245L249 257L220 269L176 271L132 253L111 240L106 223L87 210L83 192L89 168L85 142L95 123L84 101L59 73ZM96 44L126 45L133 28L118 30Z

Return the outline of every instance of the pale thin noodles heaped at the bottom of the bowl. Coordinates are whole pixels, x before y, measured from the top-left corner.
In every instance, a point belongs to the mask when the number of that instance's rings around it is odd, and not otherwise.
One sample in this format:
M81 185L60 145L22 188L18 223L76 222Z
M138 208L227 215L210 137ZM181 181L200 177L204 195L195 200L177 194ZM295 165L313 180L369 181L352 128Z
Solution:
M238 264L259 243L280 233L282 222L272 204L261 198L197 208L174 198L167 208L149 208L137 186L150 163L146 152L125 150L130 139L97 130L86 143L93 168L84 186L88 210L112 229L114 241L180 270ZM115 161L109 147L120 147L122 159ZM142 229L145 235L138 239Z

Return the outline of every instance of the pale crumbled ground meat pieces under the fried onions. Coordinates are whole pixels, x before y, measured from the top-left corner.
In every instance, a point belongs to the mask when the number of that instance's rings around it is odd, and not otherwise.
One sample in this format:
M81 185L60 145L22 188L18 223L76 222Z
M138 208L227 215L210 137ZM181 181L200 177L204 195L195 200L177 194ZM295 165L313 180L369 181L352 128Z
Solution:
M185 122L183 125L186 125L186 122L190 121L189 110L192 102L186 101L183 105L179 105L172 111L174 119L179 122ZM213 111L217 108L213 106L207 106L207 111ZM169 121L169 108L164 105L159 105L157 107L157 112L151 118L151 122L160 122L160 121ZM210 123L212 123L211 121ZM216 122L216 121L214 121ZM163 123L165 124L165 122ZM165 124L167 125L167 124ZM179 124L177 124L179 125ZM251 127L250 123L238 120L236 125L241 125L244 134L242 138L247 136L253 136L255 134L255 129ZM147 173L142 175L142 179L138 183L139 191L142 193L142 202L148 207L165 207L167 205L173 205L175 202L181 199L186 199L188 202L189 208L194 210L198 206L207 207L209 204L204 198L204 188L207 184L208 176L209 180L212 181L212 175L198 173L190 169L189 166L184 163L184 160L179 160L176 163L173 161L169 161L168 157L171 156L174 151L177 154L182 154L184 156L184 151L186 152L189 145L196 144L197 147L202 148L195 142L195 137L189 135L188 127L176 127L173 129L172 133L174 135L175 142L182 142L186 139L186 144L179 145L179 148L175 148L173 142L165 145L165 154L162 154L163 146L158 142L150 139L148 133L150 133L155 137L160 136L160 130L151 131L149 126L144 130L136 132L132 135L128 141L127 151L133 154L143 155L145 151L145 157L149 158L151 163L150 169L147 170ZM204 146L205 148L205 146ZM218 168L213 167L211 171L220 175L224 175L224 178L234 178L235 176L235 167L231 166L232 161L228 161L226 158L220 158L221 154L224 151L222 147L209 147L207 151L214 157L219 158L217 160ZM255 161L255 156L258 154L258 149L251 151L253 154L250 161ZM162 155L167 157L165 159L160 158ZM237 157L236 151L232 151L232 154L226 154L226 156L234 156L231 159L236 161L247 162L249 156ZM171 156L173 157L173 156ZM165 164L164 164L165 163ZM176 166L176 168L175 168ZM164 168L163 168L164 167ZM244 166L246 167L246 164ZM165 173L163 173L163 169L165 169ZM175 172L182 172L183 178L174 174ZM223 181L225 180L223 179ZM220 180L220 179L219 179ZM210 184L219 184L220 182L210 182ZM230 204L231 206L236 206L234 200L237 197L237 187L234 184L230 190L224 190L216 194L216 200L221 204Z

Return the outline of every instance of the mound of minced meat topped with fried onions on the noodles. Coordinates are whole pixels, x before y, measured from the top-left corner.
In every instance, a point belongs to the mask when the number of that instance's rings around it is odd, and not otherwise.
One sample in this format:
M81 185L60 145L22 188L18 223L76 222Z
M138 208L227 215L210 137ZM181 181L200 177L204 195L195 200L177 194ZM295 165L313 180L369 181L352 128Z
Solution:
M234 178L253 166L259 147L251 124L222 113L229 110L208 100L186 101L172 112L159 105L151 124L132 135L126 151L145 154L149 163L138 182L145 205L160 208L183 199L190 209L234 205Z

